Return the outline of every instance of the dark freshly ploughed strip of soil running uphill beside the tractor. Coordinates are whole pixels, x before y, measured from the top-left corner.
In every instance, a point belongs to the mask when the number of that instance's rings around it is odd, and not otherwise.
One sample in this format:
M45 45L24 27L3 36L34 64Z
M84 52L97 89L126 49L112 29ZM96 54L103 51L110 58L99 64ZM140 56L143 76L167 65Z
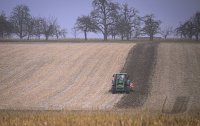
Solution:
M121 72L128 73L136 87L116 104L118 108L136 108L144 105L151 89L151 75L156 63L158 43L140 43L134 46L126 59Z

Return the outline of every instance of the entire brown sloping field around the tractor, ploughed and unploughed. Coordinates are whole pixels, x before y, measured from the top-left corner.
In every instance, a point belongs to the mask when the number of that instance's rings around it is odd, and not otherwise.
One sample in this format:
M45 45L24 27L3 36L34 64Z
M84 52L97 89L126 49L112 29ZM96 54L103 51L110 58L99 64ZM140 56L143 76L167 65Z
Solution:
M199 112L199 64L198 43L0 43L0 109ZM120 71L130 94L109 92Z

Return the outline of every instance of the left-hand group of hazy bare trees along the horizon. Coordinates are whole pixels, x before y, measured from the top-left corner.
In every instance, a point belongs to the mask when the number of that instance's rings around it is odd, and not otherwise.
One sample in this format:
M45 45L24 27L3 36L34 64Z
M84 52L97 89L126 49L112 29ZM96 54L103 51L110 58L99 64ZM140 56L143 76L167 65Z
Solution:
M0 15L0 37L8 37L13 34L20 39L30 39L32 37L40 39L44 36L46 40L49 37L65 37L66 29L61 29L55 18L33 17L30 9L26 5L17 5L10 18L5 13Z

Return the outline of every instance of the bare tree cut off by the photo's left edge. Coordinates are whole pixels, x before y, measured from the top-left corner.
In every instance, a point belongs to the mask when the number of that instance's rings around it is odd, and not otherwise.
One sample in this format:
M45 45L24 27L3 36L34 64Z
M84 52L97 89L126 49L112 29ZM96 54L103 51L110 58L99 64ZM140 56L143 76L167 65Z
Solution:
M4 12L0 14L0 38L9 36L12 32L12 25L8 21Z

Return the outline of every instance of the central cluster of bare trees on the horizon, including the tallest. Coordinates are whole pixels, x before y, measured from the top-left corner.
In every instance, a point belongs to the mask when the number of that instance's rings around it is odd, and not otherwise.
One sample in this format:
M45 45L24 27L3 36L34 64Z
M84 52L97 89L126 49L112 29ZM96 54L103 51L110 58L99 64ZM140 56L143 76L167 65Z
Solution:
M159 33L161 21L156 20L153 15L140 17L138 11L128 4L93 0L92 6L91 13L78 17L75 24L75 28L84 32L85 39L87 32L100 32L104 40L107 40L108 36L129 40L140 34L146 34L153 40L154 35Z

